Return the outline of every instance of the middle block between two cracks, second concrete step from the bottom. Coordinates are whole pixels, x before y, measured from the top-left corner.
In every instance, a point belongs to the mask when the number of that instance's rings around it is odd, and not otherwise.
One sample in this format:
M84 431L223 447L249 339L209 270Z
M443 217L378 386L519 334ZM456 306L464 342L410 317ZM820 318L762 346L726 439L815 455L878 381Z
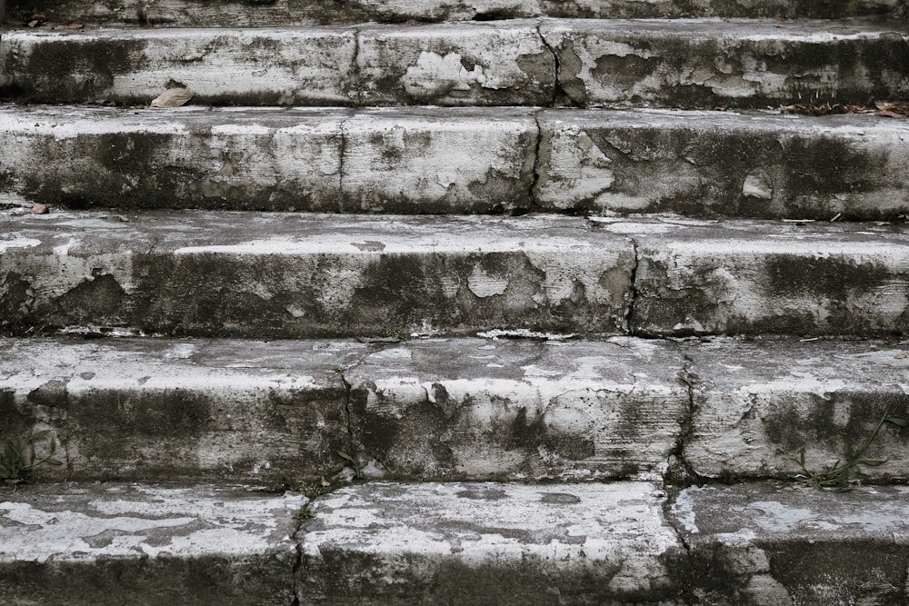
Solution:
M357 448L386 477L659 477L688 391L671 343L438 340L345 372Z

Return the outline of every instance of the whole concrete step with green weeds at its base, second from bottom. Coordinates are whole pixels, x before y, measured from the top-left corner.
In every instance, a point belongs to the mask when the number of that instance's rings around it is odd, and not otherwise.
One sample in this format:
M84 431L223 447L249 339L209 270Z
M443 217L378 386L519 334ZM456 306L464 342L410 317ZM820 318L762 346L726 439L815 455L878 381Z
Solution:
M45 481L314 481L338 452L385 479L785 481L869 439L885 463L842 487L907 479L907 430L874 434L909 416L905 342L0 344L0 439L52 432Z

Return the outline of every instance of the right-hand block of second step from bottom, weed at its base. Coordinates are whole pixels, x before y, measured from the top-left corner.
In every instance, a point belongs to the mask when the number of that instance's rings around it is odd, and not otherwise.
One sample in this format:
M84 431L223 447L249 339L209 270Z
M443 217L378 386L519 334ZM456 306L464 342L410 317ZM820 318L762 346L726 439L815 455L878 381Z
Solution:
M685 343L694 413L684 460L712 478L793 477L823 472L858 450L884 416L909 417L905 343L792 341ZM909 476L907 432L885 422L857 472L894 482Z

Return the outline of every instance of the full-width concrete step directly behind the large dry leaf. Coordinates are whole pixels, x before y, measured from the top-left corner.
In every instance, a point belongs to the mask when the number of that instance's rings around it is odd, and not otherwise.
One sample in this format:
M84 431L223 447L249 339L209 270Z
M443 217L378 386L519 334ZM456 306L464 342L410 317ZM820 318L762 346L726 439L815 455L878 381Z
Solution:
M145 104L654 104L907 94L906 23L518 19L274 29L14 30L0 95ZM263 55L267 61L263 61Z

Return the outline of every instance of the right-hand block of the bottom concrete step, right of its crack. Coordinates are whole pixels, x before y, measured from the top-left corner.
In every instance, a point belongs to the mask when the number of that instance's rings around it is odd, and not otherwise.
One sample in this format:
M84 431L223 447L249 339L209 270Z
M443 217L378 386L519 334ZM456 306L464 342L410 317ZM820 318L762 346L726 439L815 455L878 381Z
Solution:
M904 604L909 490L686 489L670 510L703 604Z

